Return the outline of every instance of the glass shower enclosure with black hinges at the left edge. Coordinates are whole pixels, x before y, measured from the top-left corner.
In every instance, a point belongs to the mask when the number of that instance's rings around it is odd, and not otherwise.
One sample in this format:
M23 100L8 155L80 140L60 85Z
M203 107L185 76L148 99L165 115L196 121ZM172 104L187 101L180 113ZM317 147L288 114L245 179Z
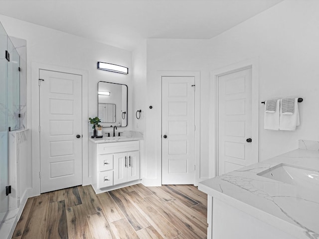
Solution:
M8 132L20 128L20 57L0 23L0 228L9 210Z

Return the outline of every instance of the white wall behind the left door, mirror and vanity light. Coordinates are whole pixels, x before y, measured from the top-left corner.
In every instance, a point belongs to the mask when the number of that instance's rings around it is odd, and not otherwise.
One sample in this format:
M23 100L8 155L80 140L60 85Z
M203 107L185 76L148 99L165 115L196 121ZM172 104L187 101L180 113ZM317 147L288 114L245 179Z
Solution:
M131 89L132 77L130 74L124 75L97 70L97 61L123 65L131 69L131 52L3 15L0 15L0 22L8 35L25 39L27 42L27 128L31 128L32 122L31 94L38 90L37 87L31 89L31 81L38 81L31 75L32 63L80 69L88 72L89 117L97 116L97 83L99 81L126 84ZM132 95L133 92L129 90L129 113L133 112L132 101L130 100ZM88 122L83 123L86 124ZM131 128L132 116L130 115L128 127L124 130L130 130ZM88 130L92 131L92 125L89 123ZM32 134L38 133L35 128L31 129L31 131ZM30 148L31 142L29 141L28 143ZM87 158L87 156L84 156L84 158ZM32 158L32 162L34 162L34 158ZM31 172L27 173L31 174ZM38 174L34 174L32 177L33 179L38 178Z

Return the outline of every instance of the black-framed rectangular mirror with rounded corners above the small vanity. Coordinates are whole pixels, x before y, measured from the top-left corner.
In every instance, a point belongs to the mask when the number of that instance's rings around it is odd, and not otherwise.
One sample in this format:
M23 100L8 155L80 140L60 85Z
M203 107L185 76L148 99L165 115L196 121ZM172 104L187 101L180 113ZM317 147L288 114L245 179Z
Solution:
M128 86L100 81L98 83L98 117L103 127L128 125Z

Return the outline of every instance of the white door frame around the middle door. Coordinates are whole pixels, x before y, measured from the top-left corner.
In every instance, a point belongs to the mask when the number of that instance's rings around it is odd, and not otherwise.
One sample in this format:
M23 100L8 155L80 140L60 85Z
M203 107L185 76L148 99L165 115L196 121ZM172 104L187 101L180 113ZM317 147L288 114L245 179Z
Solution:
M194 173L194 185L197 186L200 181L200 72L199 71L158 71L158 79L160 82L160 89L162 84L162 77L194 77L195 80L195 109L194 109L194 119L195 119L195 133L194 133L194 163L195 163L195 173ZM160 109L162 108L162 92L160 92ZM160 111L160 135L161 135L161 125L162 125L162 113ZM158 162L158 168L160 168L160 184L162 177L162 138L160 137L160 160Z

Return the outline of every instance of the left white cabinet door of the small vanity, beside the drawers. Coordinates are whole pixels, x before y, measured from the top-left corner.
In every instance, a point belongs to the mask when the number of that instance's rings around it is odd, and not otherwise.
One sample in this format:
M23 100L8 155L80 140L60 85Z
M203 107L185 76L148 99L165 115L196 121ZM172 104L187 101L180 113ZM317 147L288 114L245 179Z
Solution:
M127 162L127 153L114 154L114 184L125 183L128 181Z

